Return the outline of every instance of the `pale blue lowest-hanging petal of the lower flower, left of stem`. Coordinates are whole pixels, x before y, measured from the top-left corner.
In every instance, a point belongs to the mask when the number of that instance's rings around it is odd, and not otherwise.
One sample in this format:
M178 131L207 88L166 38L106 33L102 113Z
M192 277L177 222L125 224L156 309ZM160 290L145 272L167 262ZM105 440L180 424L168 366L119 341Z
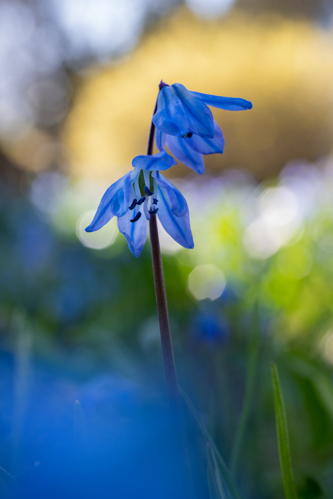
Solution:
M141 216L136 222L130 220L137 215L139 209L134 208L132 212L129 210L122 217L118 217L117 224L119 231L125 236L128 248L134 256L140 256L147 239L148 223L144 216Z

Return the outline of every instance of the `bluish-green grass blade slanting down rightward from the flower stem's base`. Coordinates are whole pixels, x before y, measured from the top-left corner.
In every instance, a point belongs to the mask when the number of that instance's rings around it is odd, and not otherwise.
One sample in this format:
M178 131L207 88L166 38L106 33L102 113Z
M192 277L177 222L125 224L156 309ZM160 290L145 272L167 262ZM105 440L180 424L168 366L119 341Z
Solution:
M242 499L242 496L238 492L237 486L236 486L234 479L232 478L232 476L227 468L226 463L224 462L224 459L222 458L218 448L216 447L214 440L212 439L209 431L207 430L204 422L202 421L198 411L196 410L196 408L192 404L191 399L186 395L186 393L184 392L184 390L182 390L181 387L179 387L179 393L181 394L184 401L186 402L189 410L191 411L194 419L196 420L196 422L197 422L203 436L205 437L207 443L209 443L211 445L211 447L215 453L215 456L216 456L216 459L217 459L217 462L219 465L219 469L221 472L221 476L223 478L225 486L227 487L227 489L229 491L231 499Z

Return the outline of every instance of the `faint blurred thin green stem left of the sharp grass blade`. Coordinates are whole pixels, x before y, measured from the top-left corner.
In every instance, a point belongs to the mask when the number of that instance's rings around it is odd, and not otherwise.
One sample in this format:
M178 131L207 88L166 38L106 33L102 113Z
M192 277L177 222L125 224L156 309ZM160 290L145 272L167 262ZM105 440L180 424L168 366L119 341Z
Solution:
M255 303L253 314L252 314L252 324L251 324L251 339L249 347L249 361L246 375L246 386L245 386L245 397L242 408L242 413L240 421L236 430L235 440L232 447L231 457L230 457L230 472L235 477L237 471L237 464L239 458L239 452L243 443L246 425L248 422L251 402L253 396L253 389L256 377L256 367L258 358L258 337L259 337L259 313L258 313L258 302Z

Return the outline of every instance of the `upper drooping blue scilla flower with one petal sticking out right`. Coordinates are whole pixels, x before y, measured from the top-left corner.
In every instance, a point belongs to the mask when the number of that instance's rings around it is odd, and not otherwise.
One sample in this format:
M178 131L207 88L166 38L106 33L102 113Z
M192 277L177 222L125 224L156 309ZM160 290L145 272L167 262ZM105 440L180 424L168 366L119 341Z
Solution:
M203 154L223 153L222 130L207 106L230 111L251 109L248 100L191 92L174 83L161 81L153 123L159 151L167 146L182 163L197 173L204 173Z

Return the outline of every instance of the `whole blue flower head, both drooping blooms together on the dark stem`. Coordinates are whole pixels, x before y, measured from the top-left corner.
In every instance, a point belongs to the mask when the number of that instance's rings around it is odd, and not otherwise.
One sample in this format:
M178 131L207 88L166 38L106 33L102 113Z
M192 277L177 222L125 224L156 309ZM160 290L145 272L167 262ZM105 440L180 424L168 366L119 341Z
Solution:
M184 248L193 248L186 200L159 170L176 162L165 148L182 163L204 173L204 154L223 153L224 137L208 105L238 111L251 109L251 102L231 97L191 92L181 85L161 81L156 111L155 155L137 156L133 171L112 184L105 192L87 232L97 231L112 217L118 217L119 231L135 256L139 256L147 238L147 221L157 215L170 236ZM207 105L208 104L208 105Z

